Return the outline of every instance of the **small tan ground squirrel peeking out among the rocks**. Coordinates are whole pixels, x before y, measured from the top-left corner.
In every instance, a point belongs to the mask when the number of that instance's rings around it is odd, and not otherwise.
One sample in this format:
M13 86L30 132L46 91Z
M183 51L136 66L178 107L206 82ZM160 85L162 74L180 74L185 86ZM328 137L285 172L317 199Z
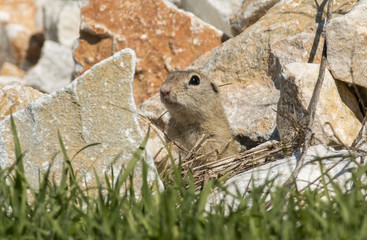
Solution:
M168 140L183 148L179 150L183 157L203 137L197 153L204 153L205 160L237 153L218 87L207 76L198 71L169 73L160 97L171 115L166 131Z

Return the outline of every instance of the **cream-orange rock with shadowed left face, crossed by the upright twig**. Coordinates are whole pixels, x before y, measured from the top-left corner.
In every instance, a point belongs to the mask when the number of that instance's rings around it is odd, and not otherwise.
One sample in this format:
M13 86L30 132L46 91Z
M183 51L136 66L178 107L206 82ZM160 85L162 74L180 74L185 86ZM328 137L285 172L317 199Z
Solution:
M301 124L306 116L307 108L319 73L318 64L290 63L280 74L280 99L278 102L277 128L281 139L292 139L298 129L293 129L294 122ZM356 138L361 123L339 96L338 88L329 71L325 79L318 101L313 124L314 144L338 143L336 136L346 145L351 145ZM338 91L339 90L339 91Z

